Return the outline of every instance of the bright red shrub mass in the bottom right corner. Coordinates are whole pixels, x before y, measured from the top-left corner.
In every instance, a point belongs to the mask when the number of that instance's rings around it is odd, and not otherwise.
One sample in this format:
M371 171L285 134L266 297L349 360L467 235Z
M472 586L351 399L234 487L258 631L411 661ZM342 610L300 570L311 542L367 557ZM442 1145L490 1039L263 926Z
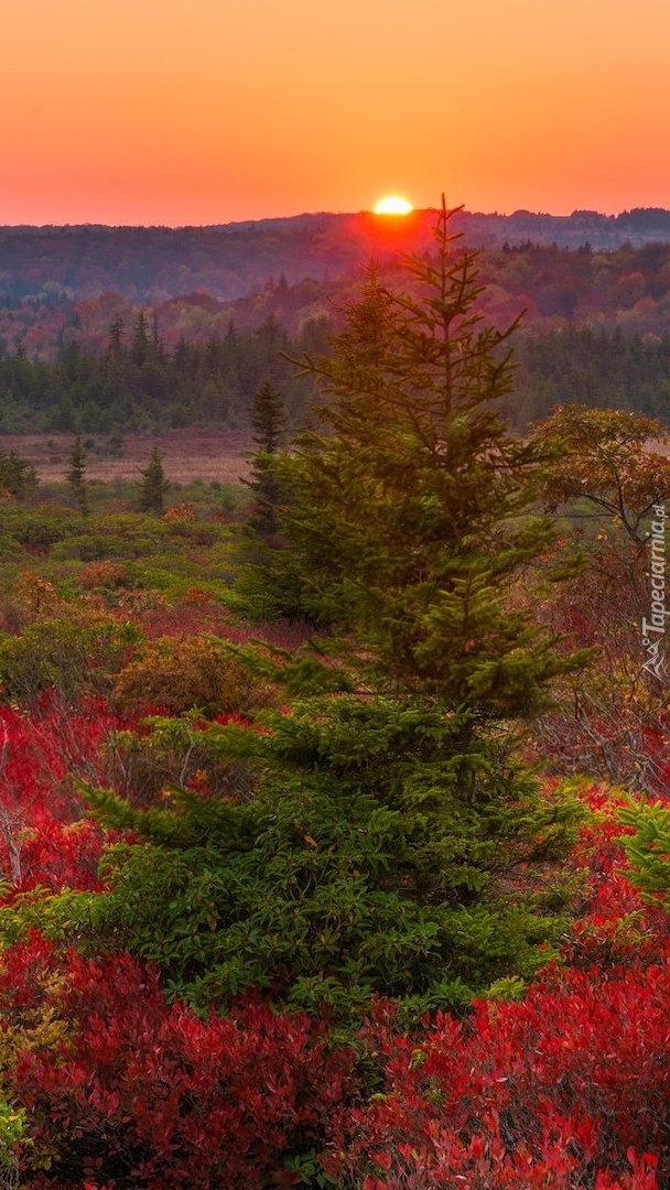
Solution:
M670 1175L669 1036L670 948L655 966L550 971L522 1003L438 1016L420 1040L382 1010L368 1040L384 1095L340 1114L330 1169L365 1190L653 1186L657 1159Z

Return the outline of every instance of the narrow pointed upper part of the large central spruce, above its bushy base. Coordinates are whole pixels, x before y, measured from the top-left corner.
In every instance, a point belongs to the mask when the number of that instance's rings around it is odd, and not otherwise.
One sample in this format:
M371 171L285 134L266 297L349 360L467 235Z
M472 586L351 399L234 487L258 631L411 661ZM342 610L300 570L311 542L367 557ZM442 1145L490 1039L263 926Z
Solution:
M305 606L363 641L397 690L482 716L532 714L571 663L514 605L555 538L533 515L541 451L509 436L508 340L477 313L477 253L436 225L408 292L372 271L328 357L307 357L321 428L281 459Z

